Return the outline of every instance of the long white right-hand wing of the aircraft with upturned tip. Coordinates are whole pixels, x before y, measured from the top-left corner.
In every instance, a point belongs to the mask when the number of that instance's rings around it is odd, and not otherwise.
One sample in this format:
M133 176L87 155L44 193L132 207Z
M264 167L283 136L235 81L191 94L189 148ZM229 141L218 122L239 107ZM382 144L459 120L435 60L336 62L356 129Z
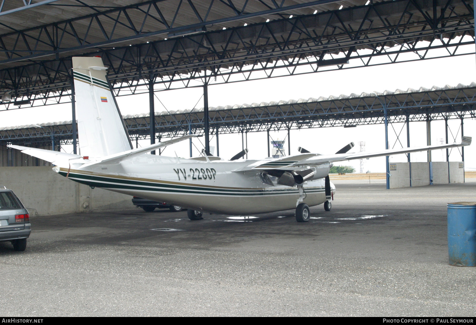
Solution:
M463 147L463 146L469 146L470 144L471 144L471 137L463 137L461 143L415 147L415 148L388 149L388 150L383 150L378 152L356 152L356 153L342 153L342 154L332 154L332 155L319 155L315 153L305 153L305 154L287 156L287 157L276 158L276 159L260 160L248 166L242 167L236 171L245 171L245 170L253 170L253 169L294 170L294 169L302 168L302 166L321 165L326 163L353 160L353 159L390 156L390 155L403 154L403 153L409 153L409 152Z

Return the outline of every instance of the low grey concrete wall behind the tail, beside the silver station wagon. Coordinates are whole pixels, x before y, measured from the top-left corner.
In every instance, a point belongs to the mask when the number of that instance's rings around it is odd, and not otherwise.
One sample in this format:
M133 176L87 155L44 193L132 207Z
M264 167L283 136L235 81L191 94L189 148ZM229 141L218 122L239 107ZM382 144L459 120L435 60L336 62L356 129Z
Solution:
M128 195L91 189L51 168L0 167L0 186L12 189L25 207L36 209L38 215L134 207Z

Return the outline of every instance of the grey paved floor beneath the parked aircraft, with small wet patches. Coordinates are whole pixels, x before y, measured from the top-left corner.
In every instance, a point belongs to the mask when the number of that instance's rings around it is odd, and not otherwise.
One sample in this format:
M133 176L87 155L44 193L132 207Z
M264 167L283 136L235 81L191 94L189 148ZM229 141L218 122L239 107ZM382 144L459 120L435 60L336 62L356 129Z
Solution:
M308 223L294 210L32 217L25 252L0 243L1 314L476 315L476 268L448 266L446 241L446 203L476 201L475 182L335 184Z

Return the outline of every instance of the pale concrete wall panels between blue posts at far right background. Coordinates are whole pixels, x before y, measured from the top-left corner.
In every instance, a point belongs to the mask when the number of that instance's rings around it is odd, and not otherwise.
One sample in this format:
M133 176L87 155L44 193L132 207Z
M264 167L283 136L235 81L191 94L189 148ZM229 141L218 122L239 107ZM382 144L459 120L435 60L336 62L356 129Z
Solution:
M427 162L411 163L412 187L424 186L430 184L430 164ZM461 162L450 161L450 182L463 183L464 168L461 168ZM392 166L393 165L393 166ZM448 163L445 161L436 161L432 163L433 184L448 184ZM409 163L390 164L390 188L409 187L410 170Z

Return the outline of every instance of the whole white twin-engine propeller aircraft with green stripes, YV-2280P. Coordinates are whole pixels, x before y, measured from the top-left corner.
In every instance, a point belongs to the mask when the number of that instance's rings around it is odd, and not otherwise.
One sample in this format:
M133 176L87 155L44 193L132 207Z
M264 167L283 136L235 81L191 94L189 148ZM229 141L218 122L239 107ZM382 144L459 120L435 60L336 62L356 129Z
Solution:
M146 154L189 135L134 149L99 57L73 58L74 87L81 155L10 145L51 162L53 170L90 187L188 208L188 218L202 213L248 215L296 208L296 220L309 220L309 207L324 203L329 211L336 187L329 181L333 162L391 154L468 146L470 137L451 145L347 153L310 153L276 159L230 160L219 157L178 158Z

